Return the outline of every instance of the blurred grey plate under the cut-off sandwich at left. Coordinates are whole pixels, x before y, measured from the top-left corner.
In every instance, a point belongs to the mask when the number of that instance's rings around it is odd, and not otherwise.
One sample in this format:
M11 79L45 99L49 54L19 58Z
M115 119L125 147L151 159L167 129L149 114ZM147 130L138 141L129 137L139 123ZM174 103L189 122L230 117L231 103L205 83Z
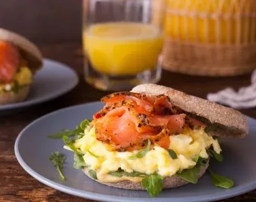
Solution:
M29 97L24 102L0 105L0 113L51 100L77 85L79 79L72 68L51 59L44 59L43 63L44 66L35 74Z

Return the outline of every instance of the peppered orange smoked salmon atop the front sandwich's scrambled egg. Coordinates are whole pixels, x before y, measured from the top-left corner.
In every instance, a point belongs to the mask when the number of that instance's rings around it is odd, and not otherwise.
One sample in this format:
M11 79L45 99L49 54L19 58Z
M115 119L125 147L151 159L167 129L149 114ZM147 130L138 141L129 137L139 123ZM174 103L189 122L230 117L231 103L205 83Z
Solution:
M179 134L185 125L203 126L175 107L164 95L120 92L102 98L104 108L93 116L97 139L111 151L132 151L145 148L147 140L165 149L170 137Z

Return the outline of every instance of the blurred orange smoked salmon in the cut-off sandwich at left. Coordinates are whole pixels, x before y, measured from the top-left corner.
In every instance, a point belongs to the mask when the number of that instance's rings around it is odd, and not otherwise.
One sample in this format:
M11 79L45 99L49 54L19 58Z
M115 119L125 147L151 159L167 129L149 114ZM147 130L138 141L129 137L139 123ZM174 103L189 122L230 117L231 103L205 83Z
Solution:
M11 82L20 63L19 52L5 41L0 41L0 83Z

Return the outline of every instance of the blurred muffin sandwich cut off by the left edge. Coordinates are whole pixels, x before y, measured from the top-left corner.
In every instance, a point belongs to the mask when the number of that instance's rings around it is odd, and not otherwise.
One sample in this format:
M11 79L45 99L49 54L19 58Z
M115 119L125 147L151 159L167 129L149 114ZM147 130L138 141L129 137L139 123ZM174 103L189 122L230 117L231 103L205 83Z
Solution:
M0 105L25 100L41 66L42 54L35 44L0 28Z

